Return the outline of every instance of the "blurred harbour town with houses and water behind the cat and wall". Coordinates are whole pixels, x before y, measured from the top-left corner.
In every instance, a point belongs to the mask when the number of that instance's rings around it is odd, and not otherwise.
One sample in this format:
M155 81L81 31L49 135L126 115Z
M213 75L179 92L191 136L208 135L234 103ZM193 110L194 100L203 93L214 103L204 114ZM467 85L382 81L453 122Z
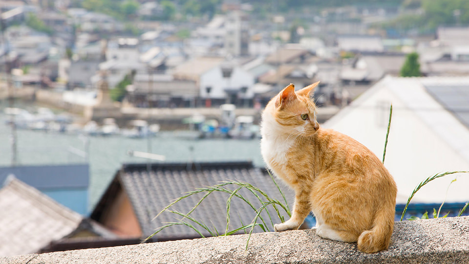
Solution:
M138 243L174 220L153 219L172 199L222 180L281 199L259 122L290 83L320 81L321 125L380 158L393 104L396 220L426 177L469 170L467 0L1 0L0 11L0 256ZM467 178L428 184L406 218L457 215ZM223 232L225 203L193 215ZM232 210L232 229L256 215ZM196 237L178 226L152 241Z

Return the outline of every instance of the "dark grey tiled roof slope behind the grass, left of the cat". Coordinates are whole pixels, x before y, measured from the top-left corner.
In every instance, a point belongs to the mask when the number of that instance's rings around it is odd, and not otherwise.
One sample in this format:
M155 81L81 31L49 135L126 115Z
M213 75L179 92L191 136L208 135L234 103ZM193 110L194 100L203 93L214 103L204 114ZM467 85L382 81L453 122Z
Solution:
M147 166L143 164L124 165L118 176L128 193L144 236L152 234L155 228L163 226L166 222L181 219L177 215L165 212L153 220L158 212L173 199L196 188L213 186L221 181L236 180L250 183L266 192L270 197L283 201L271 177L263 169L253 167L251 162L198 163L189 164L189 166L188 164L153 164L150 173L147 171ZM279 186L281 186L289 201L292 201L293 193L280 182ZM237 188L237 186L225 187L231 190ZM243 188L238 194L249 199L256 209L262 206L247 189ZM174 205L173 210L187 213L202 197L203 194L198 194L186 198ZM212 193L192 212L191 216L205 223L211 230L216 227L218 233L224 233L228 197L228 194ZM255 210L240 198L233 198L230 212L230 230L240 227L241 221L243 224L251 223L256 216ZM274 223L280 222L273 209L269 209L269 212ZM280 209L280 212L287 220L287 214L282 209ZM262 215L266 221L268 220L269 229L272 229L268 216L265 213ZM257 222L260 222L260 220ZM198 230L201 230L204 236L210 236L207 231L199 228L200 226L194 225ZM255 231L260 232L262 230L256 227ZM160 241L193 237L198 237L198 234L183 225L168 227L155 236L156 240Z

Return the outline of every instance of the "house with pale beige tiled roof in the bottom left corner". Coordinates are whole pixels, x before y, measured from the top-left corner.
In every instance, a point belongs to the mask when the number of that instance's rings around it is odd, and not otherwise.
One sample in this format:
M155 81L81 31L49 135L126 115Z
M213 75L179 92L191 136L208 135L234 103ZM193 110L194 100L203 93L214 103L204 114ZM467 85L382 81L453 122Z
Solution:
M47 252L64 241L116 237L13 176L0 189L0 212L0 257Z

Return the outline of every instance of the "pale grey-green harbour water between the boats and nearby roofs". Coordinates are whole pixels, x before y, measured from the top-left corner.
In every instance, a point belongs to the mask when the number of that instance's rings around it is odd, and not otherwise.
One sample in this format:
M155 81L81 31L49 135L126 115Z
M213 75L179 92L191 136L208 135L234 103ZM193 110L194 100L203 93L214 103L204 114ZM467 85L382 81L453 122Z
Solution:
M0 111L2 111L0 109ZM11 128L0 115L0 165L11 165ZM129 150L148 151L148 139L123 136L84 137L74 134L17 130L18 165L85 163L86 158L70 151L85 151L89 139L90 188L88 208L93 208L122 163L145 163L147 159L131 157ZM161 132L150 140L151 152L166 156L167 162L252 160L262 166L259 139L176 138L171 132ZM192 151L191 151L192 149Z

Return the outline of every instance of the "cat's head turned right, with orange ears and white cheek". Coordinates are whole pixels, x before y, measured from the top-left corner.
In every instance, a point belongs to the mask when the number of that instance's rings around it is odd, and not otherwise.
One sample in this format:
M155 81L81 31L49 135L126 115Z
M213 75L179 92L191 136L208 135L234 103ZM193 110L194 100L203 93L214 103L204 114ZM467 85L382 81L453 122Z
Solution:
M311 95L319 82L295 91L290 84L281 90L267 104L263 113L263 122L276 121L278 132L313 135L319 130L316 120L316 105ZM273 119L272 119L273 117Z

